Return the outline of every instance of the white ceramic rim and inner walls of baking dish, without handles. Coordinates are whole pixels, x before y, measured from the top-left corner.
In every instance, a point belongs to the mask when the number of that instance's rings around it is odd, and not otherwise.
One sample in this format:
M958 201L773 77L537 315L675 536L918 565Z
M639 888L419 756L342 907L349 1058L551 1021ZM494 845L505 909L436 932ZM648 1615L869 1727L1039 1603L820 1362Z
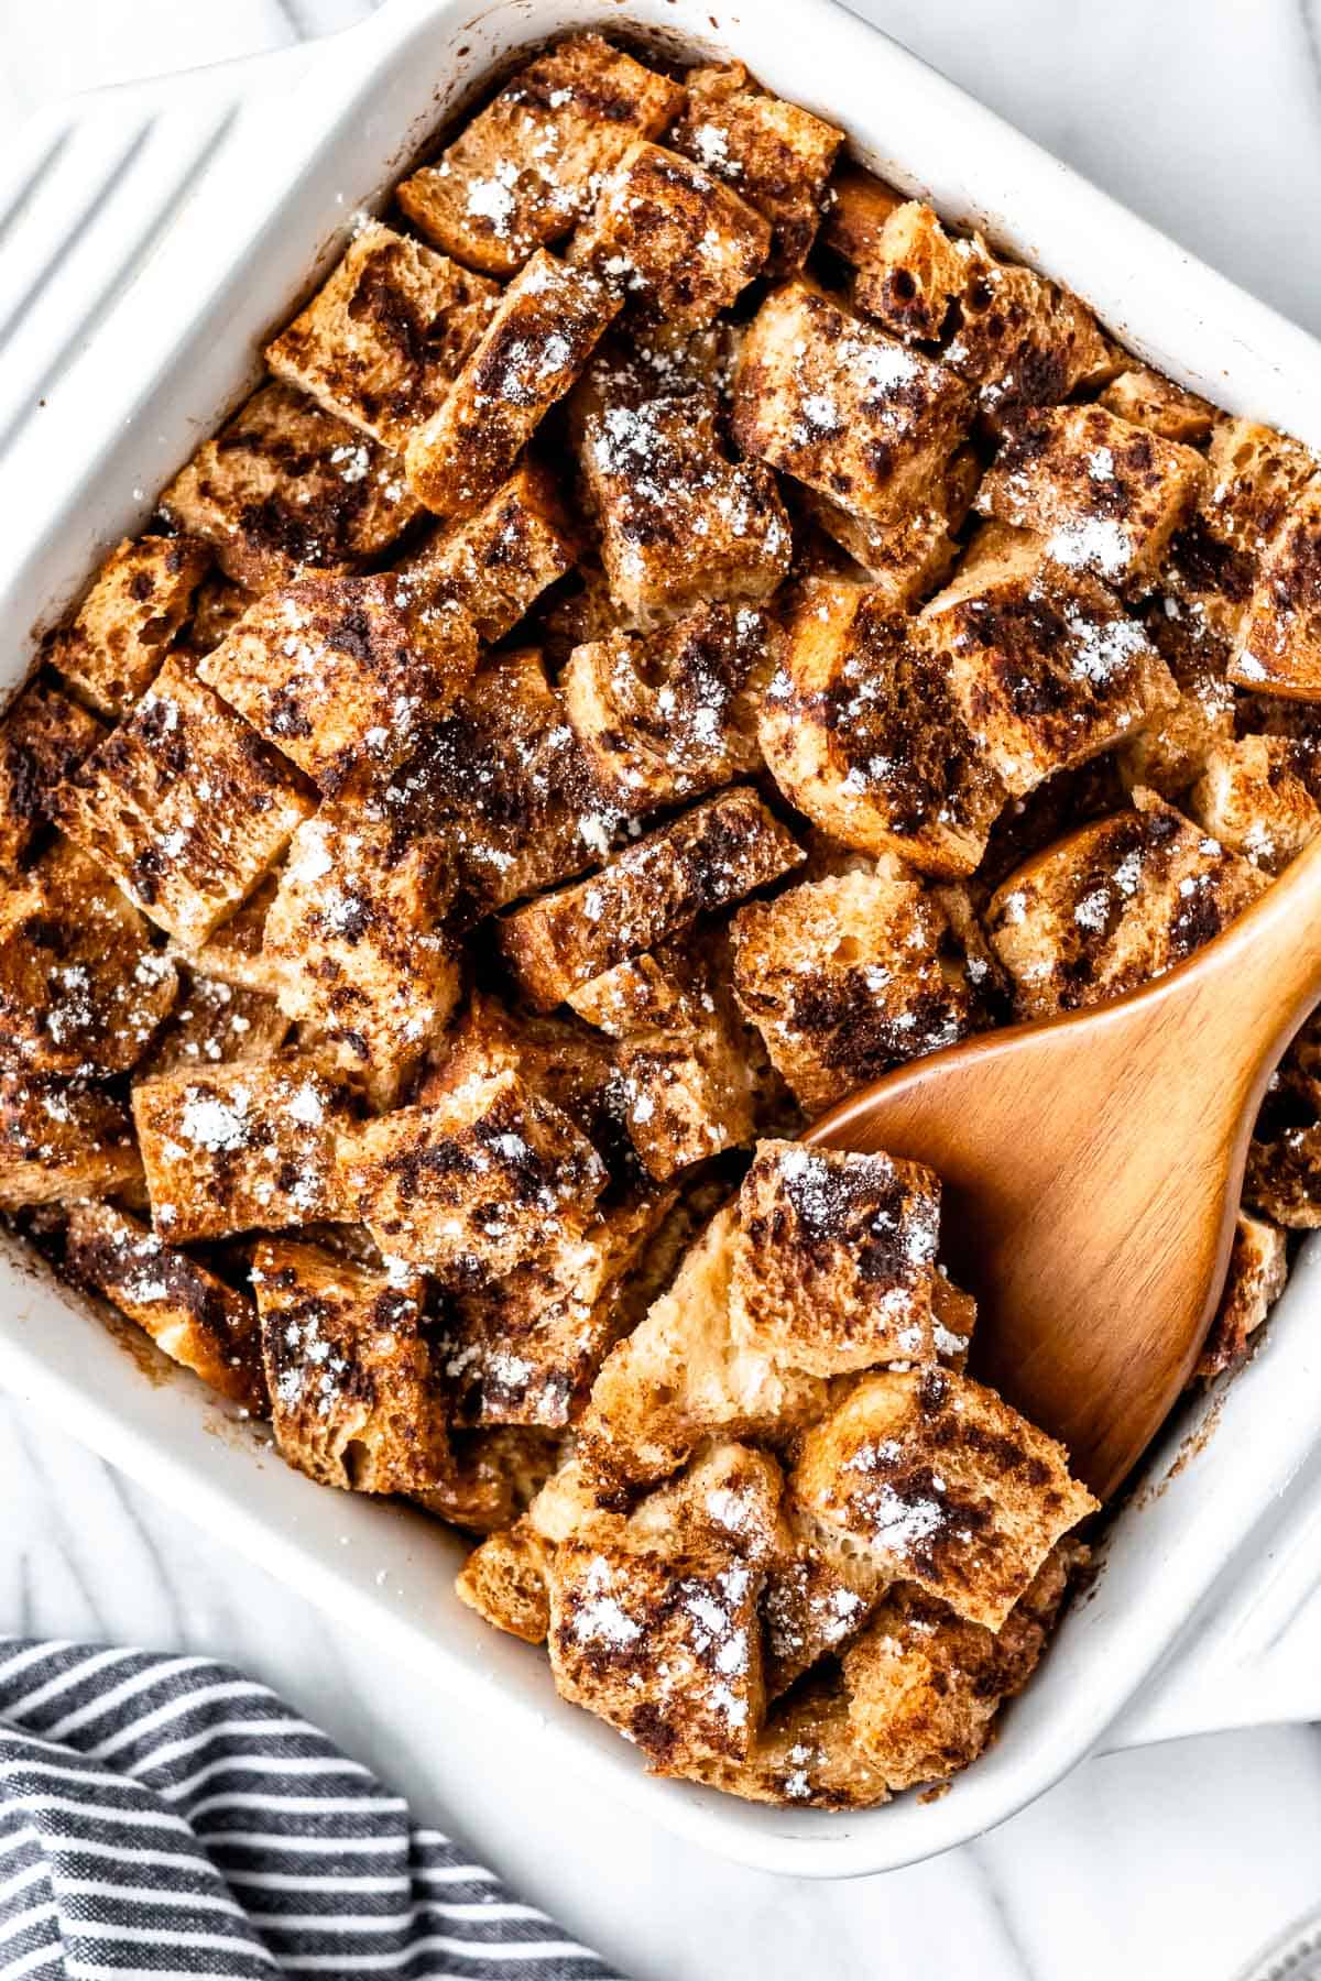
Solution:
M1115 206L986 109L830 0L386 0L323 50L261 143L212 174L46 422L6 469L0 687L30 664L16 630L48 624L93 561L141 527L151 495L257 374L263 335L337 256L355 210L509 52L566 28L642 32L683 53L737 55L848 127L858 155L947 216L1077 287L1125 343L1220 404L1321 444L1321 347ZM709 8L715 6L715 12ZM22 497L22 499L18 499ZM1266 1351L1188 1407L1151 1484L1113 1523L1101 1575L1071 1611L1000 1741L941 1801L864 1815L759 1809L650 1781L614 1733L562 1706L545 1662L452 1593L461 1543L392 1506L289 1472L180 1371L0 1256L0 1379L204 1527L370 1632L438 1686L479 1696L673 1830L766 1870L856 1876L931 1856L1012 1815L1113 1737L1157 1668L1214 1613L1224 1573L1270 1583L1277 1502L1321 1430L1321 1246L1307 1246ZM152 1381L143 1379L151 1367ZM1315 1472L1317 1468L1313 1468ZM1289 1506L1315 1533L1319 1484ZM2 1527L0 1527L2 1541ZM1311 1549L1307 1549L1311 1551ZM1297 1573L1287 1611L1297 1599ZM1270 1589L1268 1589L1270 1597ZM1270 1710L1234 1708L1234 1718ZM1161 1731L1190 1723L1157 1718ZM1194 1723L1208 1723L1206 1718Z

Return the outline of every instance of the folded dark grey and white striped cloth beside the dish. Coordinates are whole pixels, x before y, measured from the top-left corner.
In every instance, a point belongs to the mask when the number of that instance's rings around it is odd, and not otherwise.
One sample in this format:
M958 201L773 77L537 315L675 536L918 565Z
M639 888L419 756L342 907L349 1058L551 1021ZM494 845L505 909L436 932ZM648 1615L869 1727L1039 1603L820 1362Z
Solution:
M0 1977L610 1981L273 1692L0 1636Z

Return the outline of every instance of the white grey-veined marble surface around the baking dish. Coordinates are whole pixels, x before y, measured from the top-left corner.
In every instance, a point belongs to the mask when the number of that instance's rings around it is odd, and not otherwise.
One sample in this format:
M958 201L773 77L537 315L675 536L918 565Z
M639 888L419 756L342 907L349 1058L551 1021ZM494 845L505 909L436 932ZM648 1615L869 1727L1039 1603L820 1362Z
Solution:
M366 10L0 0L0 131L67 89L287 46ZM860 0L858 12L1321 331L1321 0ZM186 1510L4 1399L0 1630L246 1666L638 1981L1208 1981L1321 1896L1311 1727L1091 1763L980 1844L885 1880L810 1886L703 1858L590 1807L537 1751L511 1751L382 1670L333 1618L204 1543Z

